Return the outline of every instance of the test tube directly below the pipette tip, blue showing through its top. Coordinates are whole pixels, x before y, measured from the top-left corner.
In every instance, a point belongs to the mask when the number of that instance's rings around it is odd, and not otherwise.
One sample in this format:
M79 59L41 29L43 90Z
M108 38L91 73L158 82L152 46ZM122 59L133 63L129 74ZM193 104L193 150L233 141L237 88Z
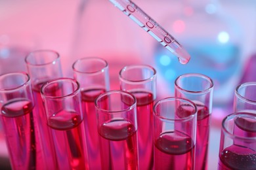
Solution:
M188 73L175 80L175 96L190 99L198 109L196 134L196 169L207 169L210 116L213 105L213 80ZM187 110L189 112L189 110Z

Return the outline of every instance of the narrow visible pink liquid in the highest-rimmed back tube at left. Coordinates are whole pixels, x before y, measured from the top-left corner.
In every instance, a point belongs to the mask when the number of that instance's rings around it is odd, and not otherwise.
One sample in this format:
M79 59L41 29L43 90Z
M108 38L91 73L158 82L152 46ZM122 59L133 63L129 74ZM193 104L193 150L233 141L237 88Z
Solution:
M36 134L40 139L40 146L43 154L43 165L41 165L41 167L43 167L43 169L57 169L58 164L54 151L53 135L51 134L51 128L47 126L47 118L45 116L45 109L43 108L43 101L40 93L41 86L43 86L44 83L45 82L40 82L39 84L32 86L33 97L36 103L35 111L37 112L37 114L34 115L38 126Z

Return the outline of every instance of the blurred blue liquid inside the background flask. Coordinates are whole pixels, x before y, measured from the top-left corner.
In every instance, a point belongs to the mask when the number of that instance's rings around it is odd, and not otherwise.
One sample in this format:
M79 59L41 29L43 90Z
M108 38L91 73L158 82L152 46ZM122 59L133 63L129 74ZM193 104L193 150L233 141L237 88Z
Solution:
M220 105L230 103L242 73L240 47L230 42L217 44L196 40L189 45L183 45L191 56L186 65L179 63L177 57L160 44L156 46L156 69L166 81L168 93L174 93L177 76L184 73L201 73L213 80L213 101Z

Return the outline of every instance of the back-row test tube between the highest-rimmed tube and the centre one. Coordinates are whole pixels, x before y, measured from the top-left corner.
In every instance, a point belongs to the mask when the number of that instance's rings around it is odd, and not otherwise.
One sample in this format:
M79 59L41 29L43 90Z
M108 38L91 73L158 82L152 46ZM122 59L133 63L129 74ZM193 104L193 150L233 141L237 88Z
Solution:
M73 64L74 78L81 86L81 103L87 135L90 169L101 169L95 98L110 90L108 63L101 58L81 58Z

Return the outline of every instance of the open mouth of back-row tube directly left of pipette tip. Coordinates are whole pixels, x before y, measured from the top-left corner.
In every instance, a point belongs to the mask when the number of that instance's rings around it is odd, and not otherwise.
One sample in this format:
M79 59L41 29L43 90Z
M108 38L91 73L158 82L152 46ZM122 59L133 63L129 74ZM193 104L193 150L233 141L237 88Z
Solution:
M127 65L119 71L119 78L133 84L149 82L156 78L156 69L150 65Z

